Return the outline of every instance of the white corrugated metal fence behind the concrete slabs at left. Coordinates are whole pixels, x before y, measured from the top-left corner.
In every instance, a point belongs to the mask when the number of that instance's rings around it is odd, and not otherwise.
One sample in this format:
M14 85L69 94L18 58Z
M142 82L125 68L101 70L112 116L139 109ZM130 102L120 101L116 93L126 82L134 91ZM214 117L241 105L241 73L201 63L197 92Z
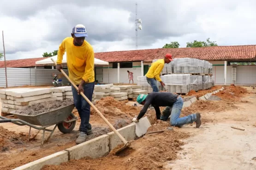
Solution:
M25 68L7 68L7 83L8 87L16 86L42 86L52 85L53 73L60 73L58 70L52 69L25 69ZM64 70L68 75L68 70ZM68 83L68 80L61 78L63 85ZM5 69L0 69L0 87L6 87Z

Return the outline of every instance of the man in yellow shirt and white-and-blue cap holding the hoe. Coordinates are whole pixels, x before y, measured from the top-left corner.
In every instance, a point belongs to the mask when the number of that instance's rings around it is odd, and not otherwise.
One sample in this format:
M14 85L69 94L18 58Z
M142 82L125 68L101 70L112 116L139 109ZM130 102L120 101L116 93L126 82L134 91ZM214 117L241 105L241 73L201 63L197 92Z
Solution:
M71 36L65 38L60 44L56 68L59 71L62 69L62 59L66 51L69 78L78 87L78 91L73 86L71 88L74 104L81 118L80 133L76 140L76 143L80 144L86 141L87 135L92 134L89 123L90 105L80 95L80 92L83 92L90 101L92 100L95 85L94 51L93 47L85 41L87 32L82 24L78 24L72 29Z

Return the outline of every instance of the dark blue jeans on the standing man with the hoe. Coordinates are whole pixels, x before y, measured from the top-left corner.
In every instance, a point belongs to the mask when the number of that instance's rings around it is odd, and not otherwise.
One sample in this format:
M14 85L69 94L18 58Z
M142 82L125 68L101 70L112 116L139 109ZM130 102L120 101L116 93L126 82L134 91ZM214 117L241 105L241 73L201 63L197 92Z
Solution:
M95 85L95 82L89 82L83 85L83 93L90 101L92 100L94 85ZM83 96L81 96L80 94L77 94L77 89L74 88L73 86L72 86L72 93L74 98L74 104L79 113L79 117L81 118L79 131L87 133L87 129L88 130L91 129L91 125L89 123L91 107L89 103L83 98Z

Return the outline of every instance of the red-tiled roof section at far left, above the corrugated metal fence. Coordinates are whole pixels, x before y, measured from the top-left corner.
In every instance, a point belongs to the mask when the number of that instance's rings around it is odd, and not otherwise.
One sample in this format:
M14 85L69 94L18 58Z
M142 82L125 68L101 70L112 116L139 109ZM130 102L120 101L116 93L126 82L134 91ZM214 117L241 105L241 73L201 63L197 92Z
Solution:
M33 59L15 59L15 60L6 60L6 67L9 68L22 68L22 67L35 67L35 66L41 66L36 65L36 61L40 61L42 59L46 59L46 57L43 58L33 58ZM5 68L5 61L0 61L0 68Z

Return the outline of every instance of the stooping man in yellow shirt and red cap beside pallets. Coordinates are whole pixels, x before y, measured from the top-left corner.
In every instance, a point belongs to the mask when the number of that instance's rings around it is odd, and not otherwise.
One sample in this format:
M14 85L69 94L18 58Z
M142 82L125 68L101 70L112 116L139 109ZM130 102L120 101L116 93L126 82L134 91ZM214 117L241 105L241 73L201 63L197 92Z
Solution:
M161 78L160 78L160 73L164 68L164 64L165 63L170 63L171 61L173 61L173 56L172 54L166 54L164 59L159 59L156 62L152 63L149 71L147 72L147 74L145 75L147 78L147 82L149 83L149 85L151 86L151 88L153 88L153 92L159 92L159 88L157 86L157 82L161 83L161 86L165 86L165 83L162 82Z

